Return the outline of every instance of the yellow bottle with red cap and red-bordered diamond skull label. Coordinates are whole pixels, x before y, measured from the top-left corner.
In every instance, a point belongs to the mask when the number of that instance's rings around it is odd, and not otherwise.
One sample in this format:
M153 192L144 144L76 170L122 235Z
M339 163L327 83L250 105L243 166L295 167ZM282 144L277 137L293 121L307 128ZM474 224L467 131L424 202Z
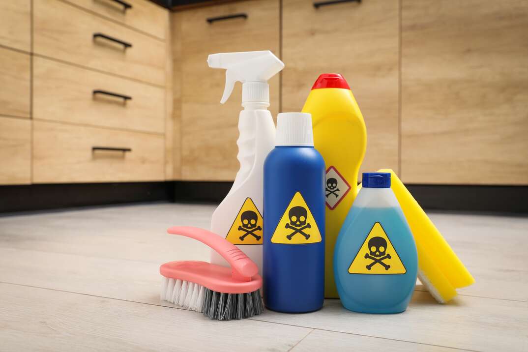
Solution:
M314 145L326 163L325 297L337 298L332 260L337 234L357 194L366 129L360 108L341 74L317 78L304 104L312 114Z

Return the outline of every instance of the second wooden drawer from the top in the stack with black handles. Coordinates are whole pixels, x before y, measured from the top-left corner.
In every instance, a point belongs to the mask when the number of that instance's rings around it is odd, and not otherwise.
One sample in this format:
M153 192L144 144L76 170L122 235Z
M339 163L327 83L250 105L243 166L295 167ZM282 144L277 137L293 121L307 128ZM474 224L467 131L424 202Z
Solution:
M34 0L35 54L165 86L165 44L59 0ZM94 35L107 35L131 47Z

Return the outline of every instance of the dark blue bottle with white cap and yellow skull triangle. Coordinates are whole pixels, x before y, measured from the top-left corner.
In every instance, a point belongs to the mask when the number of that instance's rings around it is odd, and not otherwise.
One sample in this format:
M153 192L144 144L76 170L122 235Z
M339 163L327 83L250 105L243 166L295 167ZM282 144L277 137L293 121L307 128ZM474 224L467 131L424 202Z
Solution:
M325 163L309 113L279 113L264 164L264 302L272 310L323 307Z

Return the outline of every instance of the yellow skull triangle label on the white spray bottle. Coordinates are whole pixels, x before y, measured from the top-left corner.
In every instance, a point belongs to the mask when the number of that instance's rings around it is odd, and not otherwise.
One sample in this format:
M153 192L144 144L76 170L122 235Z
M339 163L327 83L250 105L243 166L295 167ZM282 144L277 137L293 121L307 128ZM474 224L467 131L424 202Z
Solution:
M262 215L246 198L225 239L233 244L262 244Z

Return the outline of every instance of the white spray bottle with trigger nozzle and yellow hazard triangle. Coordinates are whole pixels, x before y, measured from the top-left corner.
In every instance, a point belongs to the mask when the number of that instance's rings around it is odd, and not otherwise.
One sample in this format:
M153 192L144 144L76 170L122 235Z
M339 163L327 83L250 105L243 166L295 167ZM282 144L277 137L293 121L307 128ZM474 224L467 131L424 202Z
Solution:
M238 160L240 169L233 186L211 218L211 232L219 234L257 264L262 273L262 168L275 145L275 125L269 107L268 80L284 68L271 51L209 55L210 67L225 69L225 89L220 101L228 100L235 82L242 82L239 115ZM211 263L229 266L216 251Z

